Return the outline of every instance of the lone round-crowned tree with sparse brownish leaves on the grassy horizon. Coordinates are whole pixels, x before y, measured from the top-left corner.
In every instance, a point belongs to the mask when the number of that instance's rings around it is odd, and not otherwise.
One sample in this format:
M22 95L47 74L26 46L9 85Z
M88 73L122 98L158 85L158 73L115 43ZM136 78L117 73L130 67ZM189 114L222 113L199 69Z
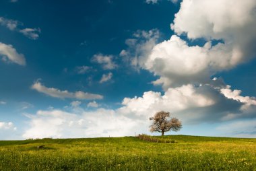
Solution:
M164 132L167 131L179 131L182 128L181 121L178 118L170 118L170 112L156 112L154 117L150 117L150 120L153 121L153 124L150 125L151 132L158 132L164 135Z

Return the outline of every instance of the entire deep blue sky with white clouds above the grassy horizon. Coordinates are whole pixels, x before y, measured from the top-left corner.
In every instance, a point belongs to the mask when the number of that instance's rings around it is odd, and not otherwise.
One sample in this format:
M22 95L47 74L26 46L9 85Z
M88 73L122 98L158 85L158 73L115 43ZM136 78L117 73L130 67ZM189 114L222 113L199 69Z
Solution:
M0 139L151 134L159 110L170 134L255 137L255 7L1 1Z

